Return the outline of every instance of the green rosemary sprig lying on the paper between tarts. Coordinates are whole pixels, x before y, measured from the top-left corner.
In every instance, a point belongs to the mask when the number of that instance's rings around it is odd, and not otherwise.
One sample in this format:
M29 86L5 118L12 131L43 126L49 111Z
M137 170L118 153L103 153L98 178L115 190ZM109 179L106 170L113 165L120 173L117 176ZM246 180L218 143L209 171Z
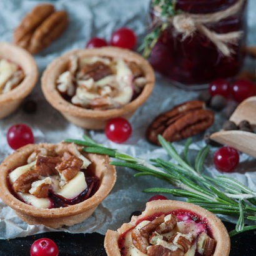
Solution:
M169 186L166 188L156 187L144 189L144 192L167 193L185 197L187 202L200 205L214 214L238 217L235 230L230 232L230 236L256 229L256 225L245 226L245 219L256 221L256 192L231 177L219 175L212 178L202 172L204 160L209 152L208 145L200 149L194 164L191 164L189 162L189 147L192 139L188 139L185 143L181 157L174 145L159 135L160 144L175 163L159 158L147 161L118 152L116 149L104 147L86 135L83 136L83 139L67 139L65 141L84 146L84 152L109 155L118 159L119 161L112 161L111 164L137 170L135 177L149 175L177 187L176 189Z

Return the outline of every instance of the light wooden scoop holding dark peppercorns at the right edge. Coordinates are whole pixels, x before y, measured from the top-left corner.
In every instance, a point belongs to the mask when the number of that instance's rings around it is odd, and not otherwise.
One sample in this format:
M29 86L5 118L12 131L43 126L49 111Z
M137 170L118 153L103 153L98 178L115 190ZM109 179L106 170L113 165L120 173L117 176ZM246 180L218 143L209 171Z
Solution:
M235 112L229 119L239 124L243 120L250 122L251 126L256 126L256 96L245 99L239 104ZM256 134L245 132L244 130L220 130L210 135L210 139L220 144L229 145L241 152L256 157Z

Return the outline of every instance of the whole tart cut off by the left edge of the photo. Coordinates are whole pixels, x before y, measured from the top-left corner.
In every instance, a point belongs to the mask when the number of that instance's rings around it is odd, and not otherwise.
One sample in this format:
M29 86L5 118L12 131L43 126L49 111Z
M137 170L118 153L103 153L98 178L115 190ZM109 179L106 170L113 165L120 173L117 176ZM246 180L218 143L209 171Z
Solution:
M0 119L14 112L38 79L36 62L29 52L0 42Z

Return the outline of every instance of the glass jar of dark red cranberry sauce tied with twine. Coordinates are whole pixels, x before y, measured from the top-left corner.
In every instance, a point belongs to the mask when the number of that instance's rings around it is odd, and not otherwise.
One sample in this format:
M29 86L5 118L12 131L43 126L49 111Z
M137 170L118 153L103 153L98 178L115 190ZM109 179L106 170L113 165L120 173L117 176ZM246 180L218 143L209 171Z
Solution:
M175 1L175 0L174 0ZM202 17L205 14L226 16L216 22L200 21L200 25L207 31L217 34L240 32L237 39L229 41L225 45L229 54L220 51L204 31L195 29L189 36L184 38L184 33L177 32L174 27L174 19L167 21L167 28L162 31L160 37L152 49L149 61L158 71L174 81L177 86L200 89L205 84L218 78L233 77L239 72L242 65L242 46L245 44L246 21L245 5L247 0L176 0L175 10L179 14L186 13L194 19L195 16ZM230 8L235 4L240 7L230 15ZM225 14L223 14L224 11ZM202 14L202 15L201 15ZM159 22L166 22L160 16L160 12L152 6L150 16ZM172 16L172 18L175 16ZM216 16L215 16L216 17ZM220 16L219 16L220 17ZM196 19L196 17L195 17ZM172 22L173 21L173 22ZM182 22L182 21L180 21ZM197 22L197 21L195 21ZM225 35L224 35L225 36Z

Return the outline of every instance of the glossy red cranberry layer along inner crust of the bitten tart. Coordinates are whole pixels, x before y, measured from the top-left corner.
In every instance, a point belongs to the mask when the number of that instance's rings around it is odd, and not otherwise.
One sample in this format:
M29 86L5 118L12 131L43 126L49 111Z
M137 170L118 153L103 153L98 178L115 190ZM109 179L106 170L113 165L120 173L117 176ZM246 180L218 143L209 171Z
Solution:
M210 228L210 225L208 224L207 219L203 218L199 214L195 214L194 212L191 212L190 210L185 210L185 209L173 210L172 212L168 212L168 213L158 212L157 214L146 216L142 219L137 220L137 222L135 223L135 226L137 226L138 224L140 224L140 222L142 222L144 220L152 221L162 214L165 214L165 216L169 215L169 214L174 214L175 216L177 216L179 221L193 220L197 224L200 223L200 224L204 225L205 232L207 233L207 235L209 235L209 237L213 239L212 229ZM118 247L119 247L119 250L120 250L122 256L127 255L127 247L125 245L126 235L132 229L134 229L134 227L132 227L129 230L126 230L126 232L124 232L123 234L120 235L120 237L117 241ZM195 252L195 256L200 256L200 255L201 254L199 254L199 252Z

